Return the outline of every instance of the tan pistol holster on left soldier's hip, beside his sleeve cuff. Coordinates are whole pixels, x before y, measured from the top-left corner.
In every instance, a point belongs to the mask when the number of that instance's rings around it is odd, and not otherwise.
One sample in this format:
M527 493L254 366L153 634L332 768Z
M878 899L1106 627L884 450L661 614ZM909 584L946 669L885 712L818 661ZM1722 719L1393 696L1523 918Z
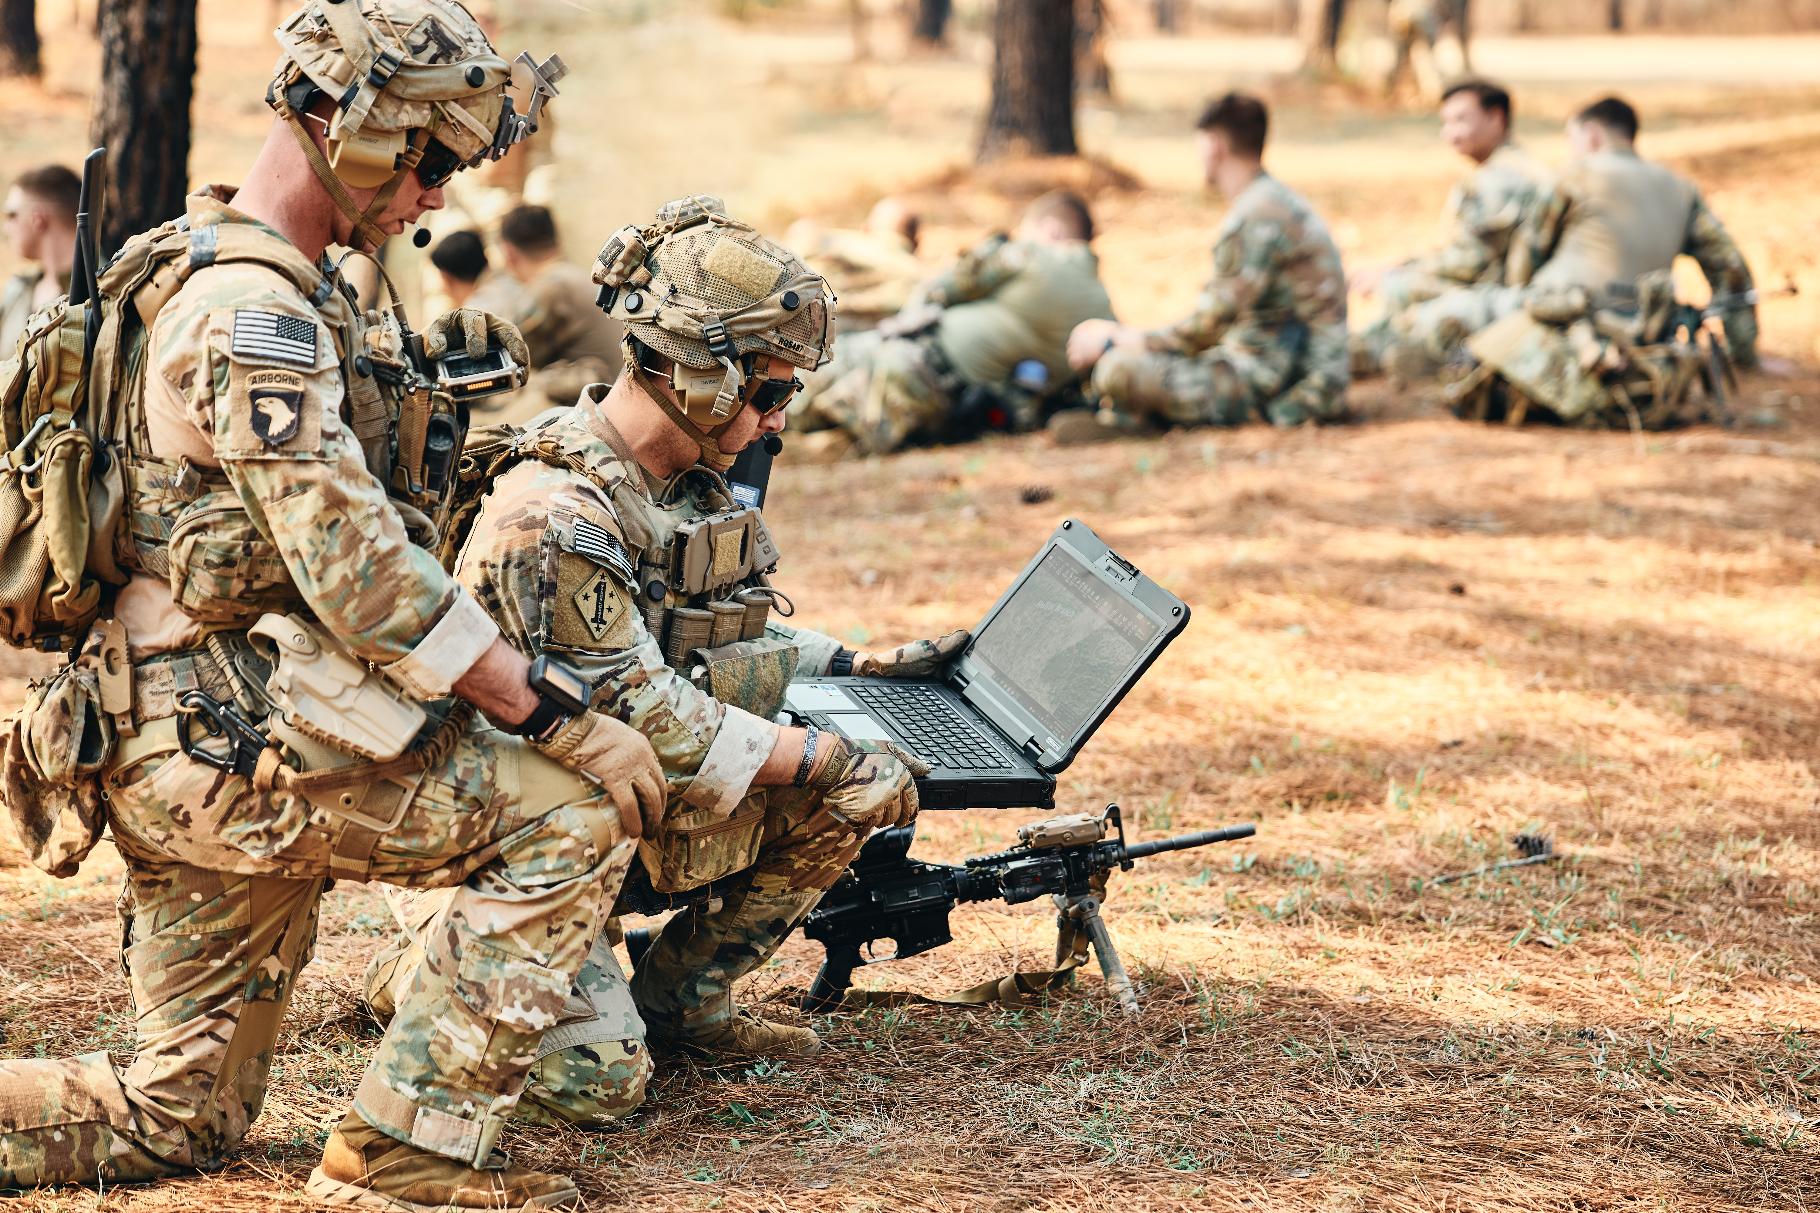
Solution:
M428 720L384 675L297 615L264 615L248 637L273 653L266 693L284 724L337 753L389 762Z

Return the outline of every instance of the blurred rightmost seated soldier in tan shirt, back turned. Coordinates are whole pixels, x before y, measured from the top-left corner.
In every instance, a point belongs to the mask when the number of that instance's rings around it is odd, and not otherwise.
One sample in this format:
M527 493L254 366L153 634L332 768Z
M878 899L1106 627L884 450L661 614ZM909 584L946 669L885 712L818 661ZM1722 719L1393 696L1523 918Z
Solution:
M1511 246L1507 284L1416 304L1400 329L1445 360L1469 336L1527 306L1554 324L1567 324L1574 300L1578 311L1634 309L1638 280L1669 275L1685 253L1724 309L1733 362L1754 367L1756 306L1747 296L1753 284L1744 253L1693 182L1636 155L1636 111L1616 96L1569 118L1572 158L1538 189Z

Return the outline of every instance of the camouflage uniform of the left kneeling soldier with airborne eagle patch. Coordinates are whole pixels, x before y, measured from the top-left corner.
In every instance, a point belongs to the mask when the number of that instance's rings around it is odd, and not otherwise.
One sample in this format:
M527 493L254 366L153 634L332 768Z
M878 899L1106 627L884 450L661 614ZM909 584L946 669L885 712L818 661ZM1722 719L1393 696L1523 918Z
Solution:
M140 571L116 617L138 735L102 778L127 864L136 1055L124 1071L104 1053L0 1066L5 1188L222 1166L258 1115L331 877L451 889L355 1109L484 1164L633 855L602 793L482 727L411 777L399 826L369 846L353 818L177 753L175 695L233 697L202 618L309 615L419 700L446 697L499 635L368 471L389 464L388 400L353 371L364 320L339 275L229 196L189 200L193 271L153 326L144 446L122 456ZM244 531L220 546L169 538L235 516Z

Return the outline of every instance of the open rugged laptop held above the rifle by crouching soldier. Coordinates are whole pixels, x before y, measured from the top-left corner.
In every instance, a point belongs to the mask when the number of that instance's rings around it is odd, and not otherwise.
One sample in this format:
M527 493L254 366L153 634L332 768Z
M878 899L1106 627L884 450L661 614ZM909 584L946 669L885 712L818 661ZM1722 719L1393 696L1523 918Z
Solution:
M1181 598L1068 518L945 680L815 678L784 704L797 722L928 760L925 809L1048 809L1056 775L1187 626Z

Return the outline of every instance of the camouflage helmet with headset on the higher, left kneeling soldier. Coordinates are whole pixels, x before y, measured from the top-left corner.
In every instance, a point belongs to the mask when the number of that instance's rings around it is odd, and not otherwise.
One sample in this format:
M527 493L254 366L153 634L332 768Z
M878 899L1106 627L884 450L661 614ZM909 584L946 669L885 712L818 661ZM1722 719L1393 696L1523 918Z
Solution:
M433 189L460 169L499 160L537 131L542 104L568 75L555 55L508 64L453 0L309 0L277 38L282 51L266 102L375 249L386 242L375 220L411 169ZM528 96L524 113L508 84ZM322 98L335 102L328 156L304 127ZM360 211L349 185L379 195Z

